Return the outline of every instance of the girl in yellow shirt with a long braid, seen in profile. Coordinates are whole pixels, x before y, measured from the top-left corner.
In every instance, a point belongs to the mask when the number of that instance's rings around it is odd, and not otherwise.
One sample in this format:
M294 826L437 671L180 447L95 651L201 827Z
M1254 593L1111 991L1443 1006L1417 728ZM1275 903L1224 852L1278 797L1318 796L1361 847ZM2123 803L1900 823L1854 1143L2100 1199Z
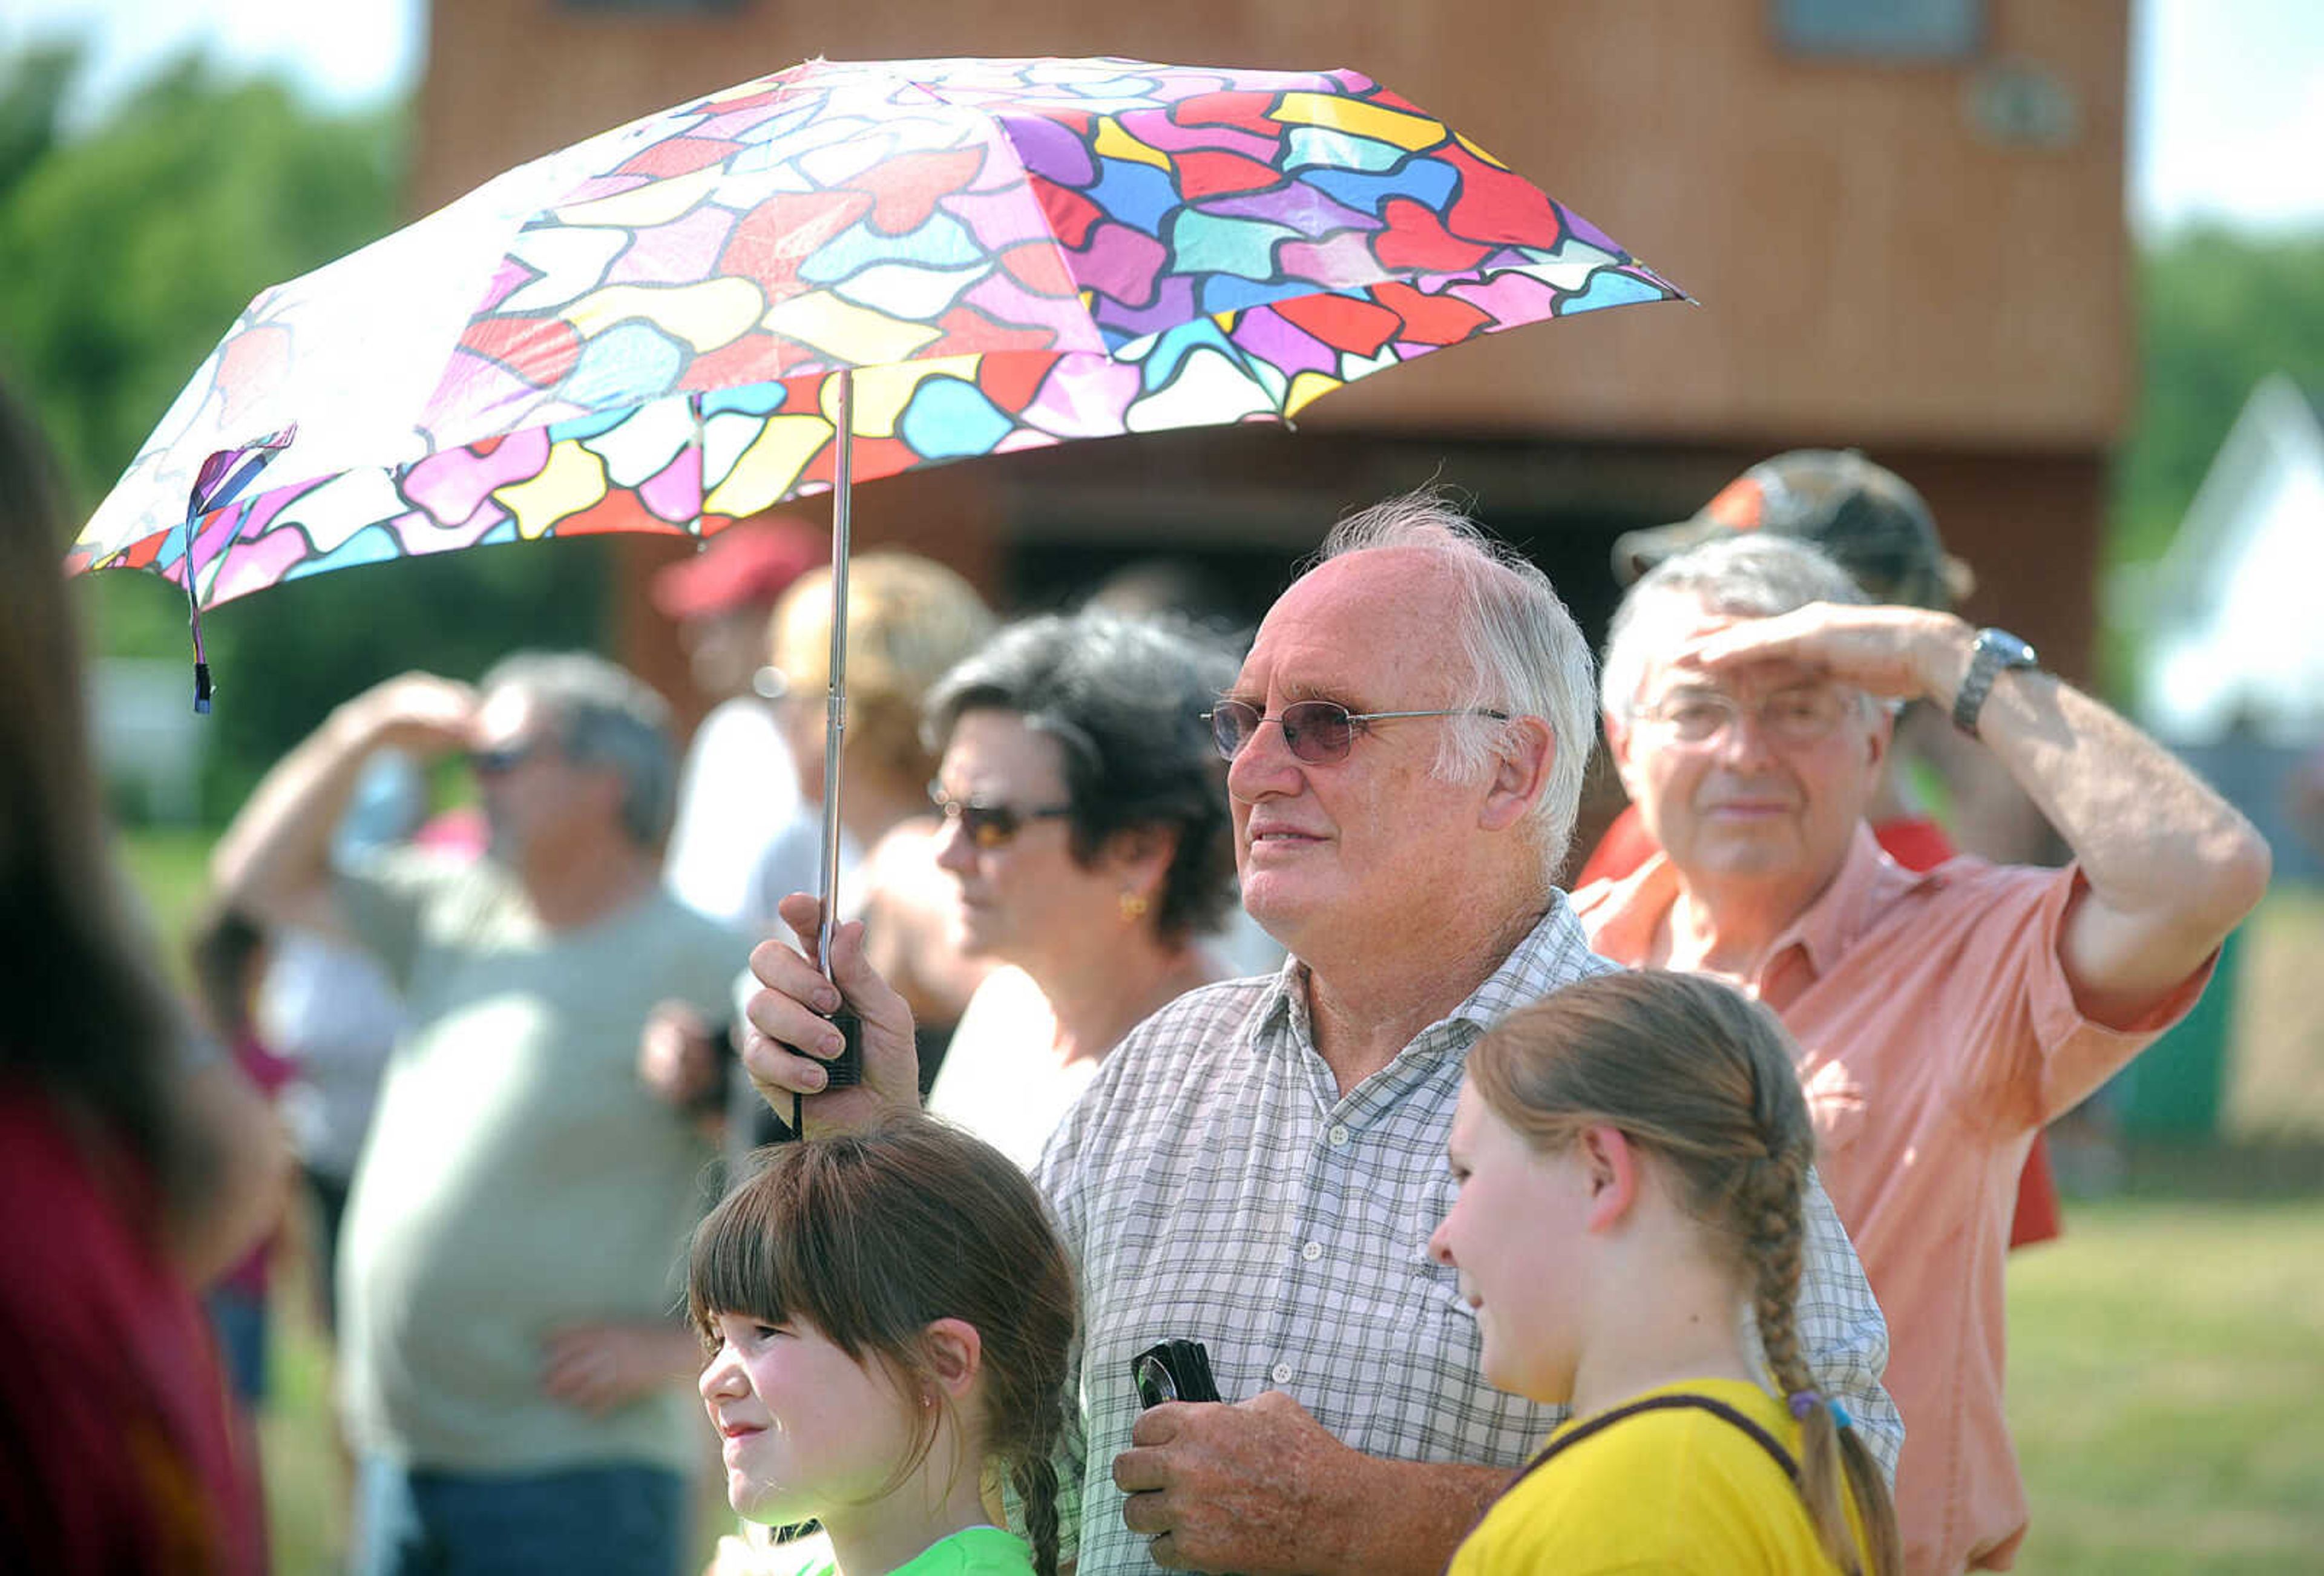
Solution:
M1429 1253L1485 1378L1573 1416L1450 1576L1901 1569L1880 1469L1794 1330L1813 1158L1789 1037L1710 979L1585 979L1469 1051Z

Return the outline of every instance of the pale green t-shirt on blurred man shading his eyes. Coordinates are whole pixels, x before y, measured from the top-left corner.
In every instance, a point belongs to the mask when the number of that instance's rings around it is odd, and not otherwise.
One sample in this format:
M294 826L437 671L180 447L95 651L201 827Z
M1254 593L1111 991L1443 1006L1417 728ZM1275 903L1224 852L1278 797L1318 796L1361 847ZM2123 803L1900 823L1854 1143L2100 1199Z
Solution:
M339 881L404 990L339 1260L356 1446L449 1471L553 1471L702 1453L669 1388L604 1416L541 1392L544 1341L669 1320L713 1151L637 1076L648 1009L725 1016L741 937L655 890L546 930L493 862L409 853Z

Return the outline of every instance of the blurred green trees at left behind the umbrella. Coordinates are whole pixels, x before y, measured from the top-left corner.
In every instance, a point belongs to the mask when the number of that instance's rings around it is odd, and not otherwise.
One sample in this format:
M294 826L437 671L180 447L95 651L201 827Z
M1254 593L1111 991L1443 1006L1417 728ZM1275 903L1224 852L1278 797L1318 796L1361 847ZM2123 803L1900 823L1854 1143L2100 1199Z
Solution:
M67 135L77 51L0 60L0 367L56 442L77 516L135 458L253 295L388 232L407 109L323 114L188 56ZM590 646L604 542L323 574L207 611L218 681L207 809L232 809L323 714L407 667L474 676L514 646ZM93 574L100 651L188 662L184 593Z

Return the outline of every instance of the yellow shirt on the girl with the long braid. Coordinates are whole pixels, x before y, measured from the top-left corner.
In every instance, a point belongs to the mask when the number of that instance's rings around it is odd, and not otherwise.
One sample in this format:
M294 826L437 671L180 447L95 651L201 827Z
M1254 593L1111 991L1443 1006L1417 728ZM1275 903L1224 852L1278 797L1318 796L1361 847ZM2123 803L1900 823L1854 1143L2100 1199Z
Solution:
M1703 1395L1743 1413L1792 1460L1799 1423L1783 1402L1738 1378L1690 1378L1645 1395ZM1566 1423L1555 1434L1585 1427ZM1862 1530L1855 1506L1848 1523ZM1792 1478L1741 1427L1699 1406L1645 1411L1576 1441L1525 1474L1485 1511L1448 1576L1557 1571L1699 1571L1792 1576L1836 1571Z

